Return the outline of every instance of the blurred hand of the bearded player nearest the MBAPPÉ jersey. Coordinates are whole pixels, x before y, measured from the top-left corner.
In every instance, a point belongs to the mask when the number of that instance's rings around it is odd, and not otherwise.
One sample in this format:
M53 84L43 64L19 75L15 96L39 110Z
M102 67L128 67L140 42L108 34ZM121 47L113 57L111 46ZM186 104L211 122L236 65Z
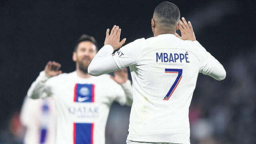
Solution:
M110 76L110 78L112 78L118 84L124 84L126 80L128 80L127 68L124 68L122 70L116 70L114 72L114 76Z

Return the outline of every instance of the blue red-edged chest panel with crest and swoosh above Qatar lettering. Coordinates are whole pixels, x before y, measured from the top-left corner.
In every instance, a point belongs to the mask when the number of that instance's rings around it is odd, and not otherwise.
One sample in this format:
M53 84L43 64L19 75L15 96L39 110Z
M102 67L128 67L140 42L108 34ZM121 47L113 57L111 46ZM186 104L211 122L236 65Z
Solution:
M94 84L76 84L74 102L94 102Z

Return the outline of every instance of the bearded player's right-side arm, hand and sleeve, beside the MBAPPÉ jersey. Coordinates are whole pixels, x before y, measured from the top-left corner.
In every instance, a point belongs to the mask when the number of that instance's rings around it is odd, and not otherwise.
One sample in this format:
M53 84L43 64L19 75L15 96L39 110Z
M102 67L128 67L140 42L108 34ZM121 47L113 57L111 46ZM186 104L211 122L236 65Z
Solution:
M114 91L116 93L116 101L119 102L121 105L132 105L132 84L130 80L128 80L128 72L127 68L122 70L116 70L114 72L114 77L111 78L122 88L116 87Z

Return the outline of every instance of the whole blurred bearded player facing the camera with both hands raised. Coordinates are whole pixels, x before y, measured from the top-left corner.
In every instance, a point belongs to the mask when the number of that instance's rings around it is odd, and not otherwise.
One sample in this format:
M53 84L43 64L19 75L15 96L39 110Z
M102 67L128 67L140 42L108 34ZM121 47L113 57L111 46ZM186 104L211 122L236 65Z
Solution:
M48 62L28 90L28 97L52 96L56 106L56 144L104 144L105 127L113 101L132 104L132 86L126 69L91 76L87 69L97 52L92 36L82 35L73 61L76 71L61 74L60 64Z

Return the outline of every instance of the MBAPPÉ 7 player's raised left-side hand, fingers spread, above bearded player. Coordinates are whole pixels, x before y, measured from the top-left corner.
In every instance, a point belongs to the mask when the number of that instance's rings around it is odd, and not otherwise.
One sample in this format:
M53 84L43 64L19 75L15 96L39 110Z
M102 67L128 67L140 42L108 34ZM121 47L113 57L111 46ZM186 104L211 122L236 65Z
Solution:
M126 38L124 38L120 42L120 34L121 34L121 28L119 28L119 26L114 25L110 34L109 34L109 29L107 29L104 45L110 44L114 48L114 50L121 48L121 46L125 43Z

